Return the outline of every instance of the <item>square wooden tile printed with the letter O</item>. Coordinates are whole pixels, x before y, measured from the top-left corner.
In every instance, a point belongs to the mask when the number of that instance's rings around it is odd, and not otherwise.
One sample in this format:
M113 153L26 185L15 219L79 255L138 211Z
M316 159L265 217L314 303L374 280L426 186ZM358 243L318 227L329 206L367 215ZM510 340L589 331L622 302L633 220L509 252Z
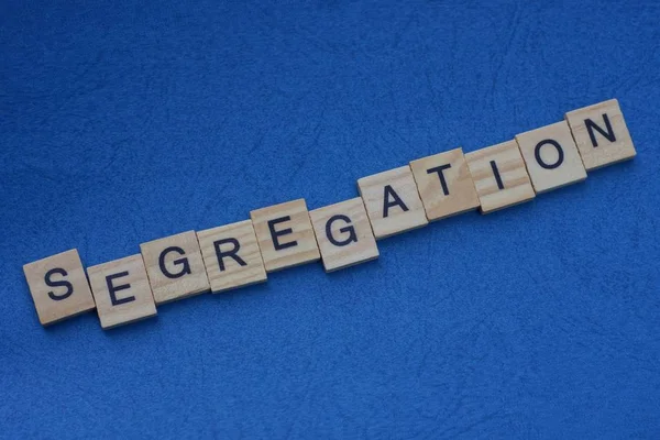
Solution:
M537 194L586 178L578 146L565 121L518 134L516 141Z

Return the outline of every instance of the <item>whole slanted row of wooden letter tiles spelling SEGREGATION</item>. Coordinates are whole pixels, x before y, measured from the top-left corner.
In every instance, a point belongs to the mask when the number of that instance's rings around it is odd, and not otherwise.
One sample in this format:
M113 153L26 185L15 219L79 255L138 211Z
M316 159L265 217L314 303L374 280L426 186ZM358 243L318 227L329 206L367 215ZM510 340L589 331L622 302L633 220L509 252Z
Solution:
M250 220L143 243L140 254L89 267L87 275L76 250L23 270L42 324L96 308L109 329L155 316L158 304L262 283L286 267L322 258L330 272L363 263L378 256L377 239L531 200L634 156L618 102L609 100L508 142L361 178L361 197L336 205L308 211L299 199L257 209Z

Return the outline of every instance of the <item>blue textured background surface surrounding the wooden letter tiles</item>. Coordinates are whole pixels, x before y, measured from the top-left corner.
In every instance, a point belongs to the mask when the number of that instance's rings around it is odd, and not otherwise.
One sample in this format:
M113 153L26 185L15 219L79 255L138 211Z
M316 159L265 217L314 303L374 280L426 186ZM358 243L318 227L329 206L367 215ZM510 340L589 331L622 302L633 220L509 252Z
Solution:
M660 437L660 6L0 4L0 437ZM618 98L586 183L43 329L24 263L144 241Z

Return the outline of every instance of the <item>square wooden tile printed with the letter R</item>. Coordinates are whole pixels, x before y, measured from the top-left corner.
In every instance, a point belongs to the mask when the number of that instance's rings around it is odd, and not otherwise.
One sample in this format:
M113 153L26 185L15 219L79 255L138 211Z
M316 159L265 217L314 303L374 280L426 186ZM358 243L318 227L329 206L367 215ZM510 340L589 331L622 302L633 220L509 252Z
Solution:
M213 293L266 280L252 221L198 231L197 237Z

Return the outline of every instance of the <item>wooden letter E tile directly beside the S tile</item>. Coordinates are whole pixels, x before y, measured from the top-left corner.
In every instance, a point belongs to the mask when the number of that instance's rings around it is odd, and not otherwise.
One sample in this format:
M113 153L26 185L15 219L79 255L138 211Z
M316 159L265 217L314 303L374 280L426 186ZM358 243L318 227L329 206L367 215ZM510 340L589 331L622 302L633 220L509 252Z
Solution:
M131 255L87 268L103 329L156 316L142 255Z

